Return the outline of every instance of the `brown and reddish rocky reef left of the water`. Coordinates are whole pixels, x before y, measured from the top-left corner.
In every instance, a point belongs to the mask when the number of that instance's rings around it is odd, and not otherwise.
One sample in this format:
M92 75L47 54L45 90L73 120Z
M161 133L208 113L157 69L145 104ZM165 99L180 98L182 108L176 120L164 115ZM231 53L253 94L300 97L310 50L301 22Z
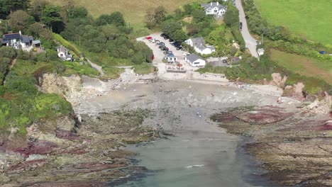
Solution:
M26 139L1 139L0 186L106 186L145 170L121 148L159 136L141 126L148 113L63 116L31 125Z

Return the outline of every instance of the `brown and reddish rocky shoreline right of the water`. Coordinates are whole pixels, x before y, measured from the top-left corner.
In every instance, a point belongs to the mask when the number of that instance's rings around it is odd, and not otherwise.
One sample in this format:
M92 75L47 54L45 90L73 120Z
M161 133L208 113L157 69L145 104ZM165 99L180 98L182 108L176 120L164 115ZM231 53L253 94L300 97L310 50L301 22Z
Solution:
M326 97L320 106L331 106ZM319 106L230 108L211 116L229 133L251 137L245 149L262 161L263 174L287 186L332 186L332 116Z

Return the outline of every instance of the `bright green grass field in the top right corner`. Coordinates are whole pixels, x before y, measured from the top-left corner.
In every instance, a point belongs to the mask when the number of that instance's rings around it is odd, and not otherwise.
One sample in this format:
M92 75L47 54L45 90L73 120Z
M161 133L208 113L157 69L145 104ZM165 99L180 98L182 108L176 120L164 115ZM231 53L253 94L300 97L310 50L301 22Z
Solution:
M332 45L331 0L254 0L262 18L293 33Z

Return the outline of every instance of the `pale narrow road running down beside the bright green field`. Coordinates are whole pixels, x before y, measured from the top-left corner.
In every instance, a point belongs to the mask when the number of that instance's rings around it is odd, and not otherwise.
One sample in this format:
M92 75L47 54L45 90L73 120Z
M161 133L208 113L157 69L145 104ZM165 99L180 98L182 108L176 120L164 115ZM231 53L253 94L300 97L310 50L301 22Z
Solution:
M241 0L236 0L236 8L238 8L240 22L242 22L242 24L243 24L241 33L245 40L245 47L248 48L248 50L250 51L251 55L253 55L253 57L258 58L258 53L257 53L257 49L256 49L258 41L255 40L255 38L253 38L253 36L251 36L249 33L247 21L245 20L245 12L243 10Z

